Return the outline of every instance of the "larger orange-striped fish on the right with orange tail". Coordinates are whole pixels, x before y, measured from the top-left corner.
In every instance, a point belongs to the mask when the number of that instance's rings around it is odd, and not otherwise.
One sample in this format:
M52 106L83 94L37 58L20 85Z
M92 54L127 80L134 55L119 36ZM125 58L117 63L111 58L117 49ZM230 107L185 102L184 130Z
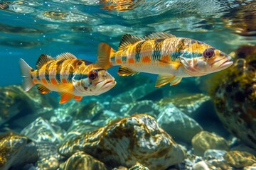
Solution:
M204 42L176 38L169 33L152 33L144 38L124 35L117 52L102 42L96 64L108 69L121 65L118 74L159 74L155 86L178 84L183 77L200 77L233 64L231 57Z

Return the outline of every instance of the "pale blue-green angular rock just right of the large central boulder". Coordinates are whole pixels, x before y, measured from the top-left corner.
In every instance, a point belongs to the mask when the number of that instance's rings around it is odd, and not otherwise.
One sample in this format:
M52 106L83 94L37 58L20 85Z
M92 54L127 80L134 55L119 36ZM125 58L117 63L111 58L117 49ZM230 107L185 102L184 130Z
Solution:
M198 125L195 120L181 112L173 104L160 109L157 122L169 135L186 143L191 143L192 137L203 130L201 125Z

